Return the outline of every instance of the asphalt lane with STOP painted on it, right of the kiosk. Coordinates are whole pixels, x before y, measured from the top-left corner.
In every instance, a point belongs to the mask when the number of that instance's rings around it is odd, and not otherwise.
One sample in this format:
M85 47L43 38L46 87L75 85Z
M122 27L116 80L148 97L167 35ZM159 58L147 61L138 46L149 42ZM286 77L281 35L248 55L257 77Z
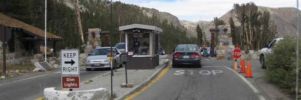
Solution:
M255 79L234 72L231 61L203 57L202 66L169 66L164 76L132 100L265 100Z

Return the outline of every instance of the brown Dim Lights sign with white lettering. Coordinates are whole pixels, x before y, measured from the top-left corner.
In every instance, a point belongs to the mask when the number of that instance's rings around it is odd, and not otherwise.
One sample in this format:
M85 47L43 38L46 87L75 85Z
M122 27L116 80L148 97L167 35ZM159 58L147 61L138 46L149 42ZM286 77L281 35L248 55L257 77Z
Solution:
M62 76L63 89L79 89L80 80L79 76Z

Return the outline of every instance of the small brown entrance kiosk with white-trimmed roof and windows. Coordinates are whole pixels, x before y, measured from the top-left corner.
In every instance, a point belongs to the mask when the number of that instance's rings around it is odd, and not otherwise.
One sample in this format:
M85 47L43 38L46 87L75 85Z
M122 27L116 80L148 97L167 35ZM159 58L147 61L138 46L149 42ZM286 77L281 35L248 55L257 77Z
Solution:
M159 65L159 40L162 29L156 26L131 24L120 26L125 34L126 52L133 52L129 57L127 69L154 69Z

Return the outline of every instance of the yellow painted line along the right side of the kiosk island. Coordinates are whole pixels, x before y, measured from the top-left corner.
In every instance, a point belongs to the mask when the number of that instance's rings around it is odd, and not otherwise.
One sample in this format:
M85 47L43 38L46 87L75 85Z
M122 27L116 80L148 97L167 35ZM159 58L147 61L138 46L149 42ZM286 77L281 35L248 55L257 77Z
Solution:
M129 97L127 97L123 100L131 100L132 98L134 98L141 92L145 91L148 87L150 87L153 83L155 83L157 80L159 80L167 72L167 70L169 69L169 66L171 66L171 64L172 63L170 62L169 65L166 68L164 68L163 71L161 71L161 73L157 76L157 78L151 81L151 83L149 83L147 86L143 87L139 92L135 92L134 94L130 95Z

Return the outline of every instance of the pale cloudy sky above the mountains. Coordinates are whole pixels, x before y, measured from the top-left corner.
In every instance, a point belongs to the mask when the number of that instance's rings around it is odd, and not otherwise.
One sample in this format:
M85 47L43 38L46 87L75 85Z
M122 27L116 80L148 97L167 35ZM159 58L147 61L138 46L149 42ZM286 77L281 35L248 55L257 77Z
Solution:
M113 0L114 1L114 0ZM296 0L116 0L140 7L155 8L168 12L180 20L211 21L213 17L221 17L232 9L234 3L255 2L258 6L271 8L294 7ZM299 2L300 4L300 2Z

